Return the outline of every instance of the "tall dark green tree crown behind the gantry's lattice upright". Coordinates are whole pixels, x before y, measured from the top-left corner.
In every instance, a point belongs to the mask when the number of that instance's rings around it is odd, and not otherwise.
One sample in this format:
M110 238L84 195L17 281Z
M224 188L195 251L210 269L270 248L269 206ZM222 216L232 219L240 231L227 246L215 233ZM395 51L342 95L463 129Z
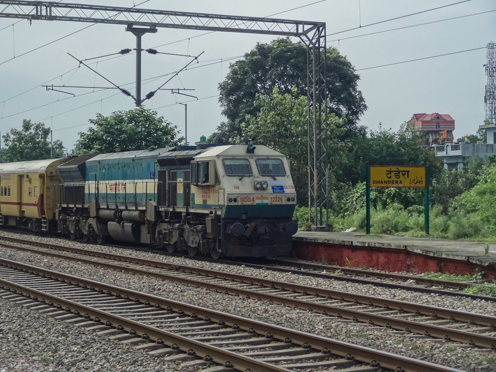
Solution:
M326 49L326 79L329 112L347 119L347 127L355 128L367 106L358 89L360 76L355 68L332 47ZM245 57L230 65L225 80L219 84L219 102L227 122L217 127L209 137L211 142L228 142L239 136L246 115L257 117L259 108L253 105L256 94L269 96L274 88L280 94L293 88L307 96L307 48L289 38L278 38L270 44L258 43ZM256 139L256 138L254 138Z

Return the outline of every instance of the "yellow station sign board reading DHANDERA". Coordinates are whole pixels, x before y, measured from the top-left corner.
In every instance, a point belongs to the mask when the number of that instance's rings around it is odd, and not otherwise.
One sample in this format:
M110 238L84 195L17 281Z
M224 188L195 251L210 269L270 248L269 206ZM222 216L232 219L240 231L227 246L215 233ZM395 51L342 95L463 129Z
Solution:
M426 187L426 167L371 165L371 187Z

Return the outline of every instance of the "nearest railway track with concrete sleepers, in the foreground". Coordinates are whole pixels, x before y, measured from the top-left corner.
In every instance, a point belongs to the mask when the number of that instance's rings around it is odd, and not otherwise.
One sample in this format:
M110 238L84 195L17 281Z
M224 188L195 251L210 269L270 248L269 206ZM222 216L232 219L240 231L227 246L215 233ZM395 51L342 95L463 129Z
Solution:
M209 371L459 371L122 287L0 260L0 296L52 316L150 344ZM107 328L107 329L105 329ZM153 343L153 344L152 344Z

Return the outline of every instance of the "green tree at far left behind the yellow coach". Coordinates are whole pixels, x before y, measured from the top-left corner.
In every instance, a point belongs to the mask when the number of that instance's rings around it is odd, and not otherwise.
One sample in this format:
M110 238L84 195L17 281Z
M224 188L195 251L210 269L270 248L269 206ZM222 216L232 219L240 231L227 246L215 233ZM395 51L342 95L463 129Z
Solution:
M16 162L62 156L62 141L54 141L51 148L50 132L51 129L44 123L34 124L31 120L24 119L21 130L13 128L2 135L5 147L1 150L1 161Z

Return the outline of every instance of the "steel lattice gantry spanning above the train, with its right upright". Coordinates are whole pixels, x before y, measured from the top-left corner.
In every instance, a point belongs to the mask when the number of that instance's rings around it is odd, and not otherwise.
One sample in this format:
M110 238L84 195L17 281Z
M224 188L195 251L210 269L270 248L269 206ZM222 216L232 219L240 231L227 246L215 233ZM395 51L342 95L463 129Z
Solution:
M141 35L145 32L155 32L154 30L157 28L298 37L308 50L309 206L314 207L315 225L324 225L323 216L327 216L327 213L322 212L323 209L328 209L327 175L329 170L326 124L325 22L50 1L0 0L1 4L3 6L0 6L0 17L24 18L29 21L47 20L126 25L126 29L136 36L137 55L141 49ZM143 28L136 28L136 26ZM138 57L136 62L138 62ZM136 66L137 70L138 66ZM138 71L136 73L138 74ZM139 82L137 85L140 85ZM136 86L136 102L140 100L139 92L140 88ZM325 218L327 219L327 217ZM327 222L326 220L326 225Z

